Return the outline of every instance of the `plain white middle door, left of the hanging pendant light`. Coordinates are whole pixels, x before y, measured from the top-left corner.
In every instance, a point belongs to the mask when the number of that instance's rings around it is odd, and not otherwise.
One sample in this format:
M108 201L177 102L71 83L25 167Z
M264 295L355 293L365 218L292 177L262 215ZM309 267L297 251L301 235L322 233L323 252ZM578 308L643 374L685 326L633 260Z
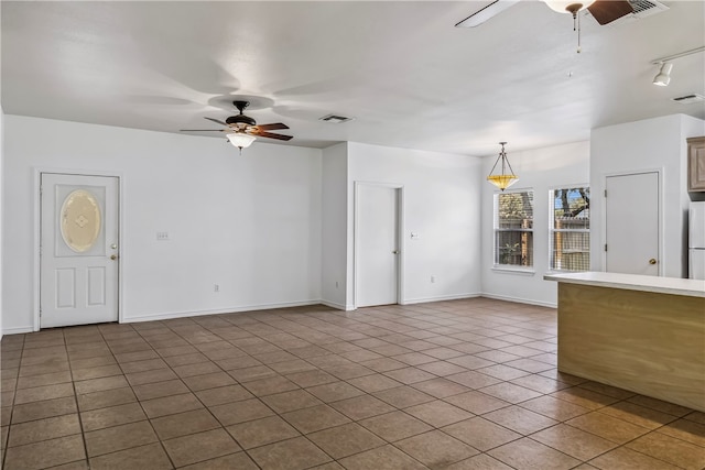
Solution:
M356 200L356 305L397 304L399 189L358 185Z

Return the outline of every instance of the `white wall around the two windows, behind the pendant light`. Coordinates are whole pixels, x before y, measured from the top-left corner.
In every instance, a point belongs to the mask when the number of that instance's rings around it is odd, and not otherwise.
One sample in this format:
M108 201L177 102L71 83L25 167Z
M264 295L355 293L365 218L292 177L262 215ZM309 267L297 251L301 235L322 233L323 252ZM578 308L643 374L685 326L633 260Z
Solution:
M499 146L497 147L499 153ZM497 188L485 177L489 174L497 154L484 159L482 187L482 294L529 304L555 306L557 289L554 282L544 281L549 271L549 192L561 187L576 187L589 182L589 142L576 142L523 152L512 152L507 146L509 162L519 176L514 189L533 189L533 253L532 273L494 269L494 195ZM592 194L594 190L590 188ZM594 200L594 197L593 197ZM592 223L592 221L590 221Z

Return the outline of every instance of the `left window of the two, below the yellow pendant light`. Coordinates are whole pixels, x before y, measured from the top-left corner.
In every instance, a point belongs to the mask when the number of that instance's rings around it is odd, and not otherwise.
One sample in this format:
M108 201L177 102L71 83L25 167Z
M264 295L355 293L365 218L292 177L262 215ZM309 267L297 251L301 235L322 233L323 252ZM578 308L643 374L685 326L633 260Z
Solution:
M495 265L533 266L533 192L495 195Z

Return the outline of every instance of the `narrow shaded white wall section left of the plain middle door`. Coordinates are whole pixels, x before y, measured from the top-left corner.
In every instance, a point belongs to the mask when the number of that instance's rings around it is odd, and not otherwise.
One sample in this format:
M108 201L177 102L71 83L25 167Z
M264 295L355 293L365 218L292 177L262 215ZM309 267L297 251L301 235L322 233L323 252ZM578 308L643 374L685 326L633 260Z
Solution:
M348 144L323 151L323 244L322 300L332 307L350 310L348 303Z

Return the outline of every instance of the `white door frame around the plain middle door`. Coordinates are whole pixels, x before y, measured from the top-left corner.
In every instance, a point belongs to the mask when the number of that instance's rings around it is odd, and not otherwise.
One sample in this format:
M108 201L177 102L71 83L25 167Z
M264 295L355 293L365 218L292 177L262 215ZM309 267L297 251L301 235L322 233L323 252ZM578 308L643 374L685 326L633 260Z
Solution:
M359 260L358 254L360 252L359 248L359 226L360 215L358 214L359 209L359 194L360 188L367 187L383 187L389 189L397 190L397 245L399 247L399 255L397 256L397 304L404 305L404 185L398 183L378 183L378 182L355 182L355 194L354 194L354 216L352 216L352 308L357 309L357 297L358 292L357 287L359 285L358 274L359 274Z

